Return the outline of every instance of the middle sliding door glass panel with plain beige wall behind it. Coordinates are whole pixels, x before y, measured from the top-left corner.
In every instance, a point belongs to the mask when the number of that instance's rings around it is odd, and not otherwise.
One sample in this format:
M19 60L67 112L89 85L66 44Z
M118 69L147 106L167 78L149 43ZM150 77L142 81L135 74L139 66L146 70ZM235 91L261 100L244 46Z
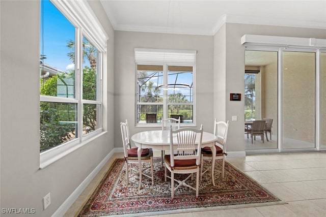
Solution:
M283 51L283 149L315 148L315 59Z

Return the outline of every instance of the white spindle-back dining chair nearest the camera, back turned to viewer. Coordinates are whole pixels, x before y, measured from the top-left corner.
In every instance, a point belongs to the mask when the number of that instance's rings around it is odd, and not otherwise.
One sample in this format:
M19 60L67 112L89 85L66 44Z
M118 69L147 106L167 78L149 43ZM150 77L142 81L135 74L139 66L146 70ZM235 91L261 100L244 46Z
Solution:
M173 140L173 138L175 139ZM197 144L196 144L196 137ZM167 177L171 179L171 198L174 198L174 192L179 187L185 186L196 191L196 197L199 195L199 167L200 152L203 138L203 128L200 130L193 128L181 128L173 131L170 129L170 153L164 158L165 181ZM177 147L174 147L176 145ZM174 154L175 153L175 154ZM171 172L171 176L167 175L167 170ZM196 173L196 187L189 185L186 181ZM175 174L189 174L183 180L175 179ZM174 181L178 183L174 187Z

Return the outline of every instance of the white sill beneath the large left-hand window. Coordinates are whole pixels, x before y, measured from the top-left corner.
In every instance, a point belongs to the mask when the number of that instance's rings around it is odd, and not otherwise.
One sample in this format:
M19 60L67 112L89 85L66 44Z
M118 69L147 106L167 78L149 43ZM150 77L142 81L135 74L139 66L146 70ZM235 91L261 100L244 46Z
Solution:
M67 156L69 153L77 150L78 148L90 143L91 141L93 141L94 139L104 135L105 133L107 133L106 131L101 131L100 133L98 133L95 136L92 136L91 138L83 141L83 142L77 142L78 139L76 139L76 141L72 141L69 144L64 144L64 145L60 145L58 147L52 148L48 151L44 151L42 153L40 153L40 170L44 169L45 167L55 163L56 161L62 159L63 157Z

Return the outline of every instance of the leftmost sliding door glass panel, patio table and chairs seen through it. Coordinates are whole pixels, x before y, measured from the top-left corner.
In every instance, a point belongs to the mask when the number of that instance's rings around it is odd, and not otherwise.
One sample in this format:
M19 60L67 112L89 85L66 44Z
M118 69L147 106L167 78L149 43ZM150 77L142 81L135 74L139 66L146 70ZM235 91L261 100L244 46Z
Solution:
M245 51L244 73L244 135L245 149L277 149L278 148L278 52L277 51ZM251 139L248 129L255 120L270 119L271 129L261 136ZM268 138L266 138L266 134ZM268 139L268 140L267 140Z

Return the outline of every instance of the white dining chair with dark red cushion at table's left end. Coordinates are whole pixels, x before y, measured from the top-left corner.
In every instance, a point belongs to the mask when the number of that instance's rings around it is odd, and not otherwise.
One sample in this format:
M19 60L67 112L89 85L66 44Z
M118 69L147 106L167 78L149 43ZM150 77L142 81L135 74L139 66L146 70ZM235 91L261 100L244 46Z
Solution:
M139 174L139 161L138 161L138 147L131 147L130 140L129 140L129 126L128 121L120 122L121 128L121 135L122 135L122 142L123 142L123 150L124 150L124 159L125 159L125 171L126 171L126 180L127 184L129 183L129 178ZM144 167L142 169L142 174L147 176L148 178L152 179L152 185L154 185L154 167L153 167L153 149L152 148L145 148L142 151L141 162L148 163L150 166ZM137 169L133 169L131 164L137 164ZM151 169L151 176L144 173L145 170ZM131 170L134 173L131 173ZM130 174L129 174L130 171Z

